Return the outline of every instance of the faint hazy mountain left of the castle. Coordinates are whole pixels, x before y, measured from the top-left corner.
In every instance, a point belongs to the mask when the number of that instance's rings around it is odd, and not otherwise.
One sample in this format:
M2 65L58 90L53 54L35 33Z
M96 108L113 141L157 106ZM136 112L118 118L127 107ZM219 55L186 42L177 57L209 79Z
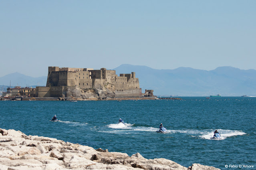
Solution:
M20 73L11 73L8 75L5 75L3 77L0 77L0 85L7 85L10 86L45 86L47 81L47 76L42 77L30 77L24 74Z

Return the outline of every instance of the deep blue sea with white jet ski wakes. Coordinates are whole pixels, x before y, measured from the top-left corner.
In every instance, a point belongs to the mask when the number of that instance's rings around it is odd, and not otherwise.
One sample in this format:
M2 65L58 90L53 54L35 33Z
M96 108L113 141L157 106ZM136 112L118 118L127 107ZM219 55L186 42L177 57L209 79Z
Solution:
M256 97L138 101L0 101L0 128L185 167L256 167ZM51 122L56 115L60 120ZM125 125L118 124L122 118ZM157 133L160 123L167 133ZM221 139L211 139L215 129ZM239 169L239 168L238 168ZM242 168L246 169L246 168ZM250 168L247 168L250 169Z

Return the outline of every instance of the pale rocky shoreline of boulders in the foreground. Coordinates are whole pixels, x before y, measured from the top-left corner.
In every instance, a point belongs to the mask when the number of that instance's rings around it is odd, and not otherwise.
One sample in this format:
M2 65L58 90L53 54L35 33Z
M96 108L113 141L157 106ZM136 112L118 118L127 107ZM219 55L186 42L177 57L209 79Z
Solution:
M164 158L146 159L136 153L109 152L19 130L0 128L0 170L220 170L193 164L188 168Z

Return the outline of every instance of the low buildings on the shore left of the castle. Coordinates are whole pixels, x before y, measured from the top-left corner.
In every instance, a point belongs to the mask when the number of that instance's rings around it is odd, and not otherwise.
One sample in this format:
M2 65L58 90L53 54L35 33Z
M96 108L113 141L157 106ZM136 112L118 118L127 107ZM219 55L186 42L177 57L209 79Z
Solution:
M24 96L30 97L31 93L35 93L36 88L32 87L20 87L16 86L14 88L7 88L6 92L2 92L2 96L14 97L14 96Z

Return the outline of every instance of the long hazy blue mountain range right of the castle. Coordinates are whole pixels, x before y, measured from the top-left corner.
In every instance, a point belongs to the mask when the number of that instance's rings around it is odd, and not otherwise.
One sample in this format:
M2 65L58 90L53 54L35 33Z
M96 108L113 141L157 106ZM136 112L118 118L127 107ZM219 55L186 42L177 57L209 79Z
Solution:
M135 72L142 92L153 89L154 95L242 96L256 94L256 70L218 67L211 71L179 67L152 69L142 65L122 64L117 74Z

